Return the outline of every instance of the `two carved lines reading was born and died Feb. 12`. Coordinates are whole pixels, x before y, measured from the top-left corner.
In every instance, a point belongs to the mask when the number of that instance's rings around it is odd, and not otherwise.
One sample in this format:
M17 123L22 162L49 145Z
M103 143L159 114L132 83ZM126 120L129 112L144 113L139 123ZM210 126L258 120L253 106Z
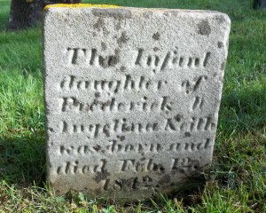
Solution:
M63 156L92 156L95 154L99 155L99 159L104 157L105 154L160 154L164 152L164 149L168 152L178 153L182 150L187 152L200 152L211 148L210 138L205 139L201 143L188 143L179 142L176 144L170 144L168 147L161 146L161 144L124 144L117 140L109 140L107 146L59 146L59 154ZM172 159L171 170L176 168L189 167L190 158L175 158ZM64 162L62 166L57 168L58 175L75 175L75 174L86 174L86 173L105 173L108 161L104 158L99 162L90 163L90 165L82 165L78 160L73 162ZM156 163L153 158L142 157L137 159L124 159L118 162L119 170L121 172L133 171L133 172L164 172L169 165L162 165Z

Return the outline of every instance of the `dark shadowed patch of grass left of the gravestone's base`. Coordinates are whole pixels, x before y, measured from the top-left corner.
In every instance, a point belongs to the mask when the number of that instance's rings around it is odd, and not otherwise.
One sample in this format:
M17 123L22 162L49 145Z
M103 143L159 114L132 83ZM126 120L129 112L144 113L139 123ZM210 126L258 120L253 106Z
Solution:
M0 138L0 179L8 184L43 186L44 138Z

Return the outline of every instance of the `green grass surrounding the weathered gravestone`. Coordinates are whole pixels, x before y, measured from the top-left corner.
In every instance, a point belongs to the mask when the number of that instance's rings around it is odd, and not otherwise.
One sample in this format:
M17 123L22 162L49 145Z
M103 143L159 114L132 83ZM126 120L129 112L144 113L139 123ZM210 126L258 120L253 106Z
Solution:
M88 2L88 1L87 1ZM231 17L214 161L199 189L118 204L82 193L55 196L45 182L42 29L5 29L0 0L1 212L266 212L266 11L252 0L94 0L90 3L203 9Z

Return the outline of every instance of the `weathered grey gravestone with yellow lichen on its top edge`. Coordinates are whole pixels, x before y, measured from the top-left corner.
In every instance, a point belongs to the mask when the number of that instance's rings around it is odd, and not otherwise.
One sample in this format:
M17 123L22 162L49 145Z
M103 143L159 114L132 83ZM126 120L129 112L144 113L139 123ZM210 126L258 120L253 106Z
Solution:
M56 192L143 199L194 182L212 160L229 32L220 12L46 8Z

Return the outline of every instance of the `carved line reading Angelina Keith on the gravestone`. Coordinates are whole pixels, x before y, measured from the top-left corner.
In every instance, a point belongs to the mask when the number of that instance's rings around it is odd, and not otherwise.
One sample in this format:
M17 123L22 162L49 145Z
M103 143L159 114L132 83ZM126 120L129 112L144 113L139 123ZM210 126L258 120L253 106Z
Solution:
M189 120L181 118L177 114L174 118L168 118L165 122L128 122L126 118L116 119L111 122L91 123L91 124L74 124L66 121L61 123L61 132L67 134L84 134L87 138L98 138L104 135L109 138L117 133L147 133L153 131L169 132L200 132L215 130L213 116L195 118Z

